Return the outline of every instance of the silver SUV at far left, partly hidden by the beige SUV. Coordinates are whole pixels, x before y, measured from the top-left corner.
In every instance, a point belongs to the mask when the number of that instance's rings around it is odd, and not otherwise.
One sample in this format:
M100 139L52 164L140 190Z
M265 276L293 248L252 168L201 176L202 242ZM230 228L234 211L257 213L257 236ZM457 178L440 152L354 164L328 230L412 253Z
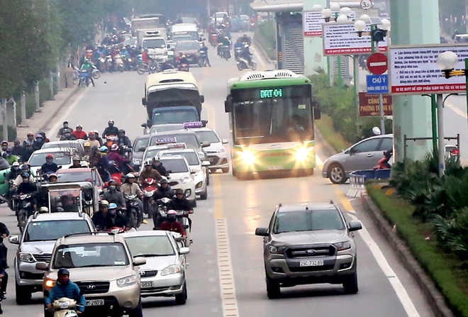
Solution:
M28 218L23 235L11 235L9 242L18 245L14 260L16 304L26 304L31 294L43 291L44 273L35 269L37 262L50 262L55 241L70 233L94 232L87 213L38 213Z

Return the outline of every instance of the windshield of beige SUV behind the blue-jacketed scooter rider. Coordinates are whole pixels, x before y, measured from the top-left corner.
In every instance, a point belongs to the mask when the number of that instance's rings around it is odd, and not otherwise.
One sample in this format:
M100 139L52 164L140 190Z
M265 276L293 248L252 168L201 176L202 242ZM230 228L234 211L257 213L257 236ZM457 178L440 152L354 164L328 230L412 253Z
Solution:
M55 250L52 268L114 267L129 263L122 243L86 243L60 245Z

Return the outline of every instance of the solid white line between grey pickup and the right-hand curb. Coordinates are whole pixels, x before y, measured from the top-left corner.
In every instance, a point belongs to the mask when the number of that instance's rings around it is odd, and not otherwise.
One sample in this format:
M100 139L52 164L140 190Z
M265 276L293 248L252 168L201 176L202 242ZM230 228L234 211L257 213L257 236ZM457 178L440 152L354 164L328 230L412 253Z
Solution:
M353 210L352 212L354 213L355 211ZM350 213L350 217L352 220L358 220L354 214ZM408 315L408 317L420 317L416 307L413 304L413 301L411 301L408 293L406 292L406 289L403 287L403 284L401 284L400 279L396 276L394 270L391 269L389 262L386 261L384 254L381 252L374 239L372 239L372 237L369 235L367 229L362 226L362 229L359 231L359 233L362 240L364 240L364 243L366 243L367 247L372 252L375 260L377 260L377 264L379 265L380 269L382 272L384 272L386 278L389 280L391 287L393 287L396 296L398 296L401 305L403 305L403 308L406 311L406 315Z

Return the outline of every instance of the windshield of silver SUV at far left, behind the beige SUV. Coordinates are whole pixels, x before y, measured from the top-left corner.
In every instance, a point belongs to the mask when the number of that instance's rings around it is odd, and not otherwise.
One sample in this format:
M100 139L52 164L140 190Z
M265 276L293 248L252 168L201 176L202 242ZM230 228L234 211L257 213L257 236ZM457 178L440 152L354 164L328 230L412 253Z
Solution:
M24 233L24 242L57 240L72 233L90 232L85 220L49 220L33 221L28 224Z

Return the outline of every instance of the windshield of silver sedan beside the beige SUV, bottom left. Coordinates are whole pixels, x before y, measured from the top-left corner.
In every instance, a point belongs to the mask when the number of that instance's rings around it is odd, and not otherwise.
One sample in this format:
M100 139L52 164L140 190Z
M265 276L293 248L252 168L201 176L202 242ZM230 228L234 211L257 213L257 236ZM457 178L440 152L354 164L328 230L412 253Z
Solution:
M133 257L161 257L175 255L167 235L148 235L125 238Z

